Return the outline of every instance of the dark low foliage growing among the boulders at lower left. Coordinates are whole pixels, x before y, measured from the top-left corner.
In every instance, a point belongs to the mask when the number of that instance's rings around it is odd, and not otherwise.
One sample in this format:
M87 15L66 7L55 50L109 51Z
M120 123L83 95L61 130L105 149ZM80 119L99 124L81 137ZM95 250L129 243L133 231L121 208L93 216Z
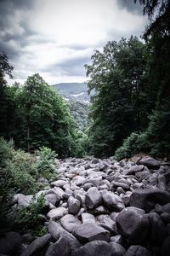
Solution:
M42 236L46 231L42 224L44 219L41 214L45 211L44 196L40 195L31 203L30 207L18 207L14 216L14 229L22 232L31 231L34 235Z

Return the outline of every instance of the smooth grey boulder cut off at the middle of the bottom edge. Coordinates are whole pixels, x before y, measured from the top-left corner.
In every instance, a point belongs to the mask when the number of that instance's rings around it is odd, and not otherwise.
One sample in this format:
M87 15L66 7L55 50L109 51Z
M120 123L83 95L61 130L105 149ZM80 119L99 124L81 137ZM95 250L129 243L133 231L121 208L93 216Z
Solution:
M106 241L90 241L73 251L71 256L111 256L109 244Z

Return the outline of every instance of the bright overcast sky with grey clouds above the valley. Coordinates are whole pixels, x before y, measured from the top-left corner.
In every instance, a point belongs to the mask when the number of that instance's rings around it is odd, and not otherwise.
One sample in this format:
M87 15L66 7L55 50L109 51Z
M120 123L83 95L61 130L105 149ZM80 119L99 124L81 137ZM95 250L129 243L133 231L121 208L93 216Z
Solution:
M33 73L49 84L85 81L94 49L139 36L145 24L133 0L0 0L0 51L14 67L10 84Z

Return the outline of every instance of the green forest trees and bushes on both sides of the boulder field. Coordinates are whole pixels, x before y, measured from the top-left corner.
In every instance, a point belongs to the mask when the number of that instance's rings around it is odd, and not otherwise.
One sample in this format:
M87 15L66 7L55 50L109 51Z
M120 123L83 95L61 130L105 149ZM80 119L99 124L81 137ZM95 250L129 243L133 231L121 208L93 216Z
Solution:
M13 67L8 55L0 54L1 232L45 234L38 218L43 198L38 207L32 204L12 213L10 200L16 193L32 195L54 182L59 177L57 159L170 159L170 2L139 3L150 20L141 38L109 41L94 51L91 64L84 63L88 92L95 93L82 131L65 99L38 73L25 84L9 86L5 78L13 77Z

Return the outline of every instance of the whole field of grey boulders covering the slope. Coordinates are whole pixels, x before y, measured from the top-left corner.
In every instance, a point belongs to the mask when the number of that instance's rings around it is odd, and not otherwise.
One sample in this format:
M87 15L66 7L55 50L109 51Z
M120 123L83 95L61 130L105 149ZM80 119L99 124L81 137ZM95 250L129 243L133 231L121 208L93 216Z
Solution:
M58 180L44 195L48 233L8 232L0 255L169 256L170 166L150 157L135 160L57 160ZM33 195L14 195L29 207Z

